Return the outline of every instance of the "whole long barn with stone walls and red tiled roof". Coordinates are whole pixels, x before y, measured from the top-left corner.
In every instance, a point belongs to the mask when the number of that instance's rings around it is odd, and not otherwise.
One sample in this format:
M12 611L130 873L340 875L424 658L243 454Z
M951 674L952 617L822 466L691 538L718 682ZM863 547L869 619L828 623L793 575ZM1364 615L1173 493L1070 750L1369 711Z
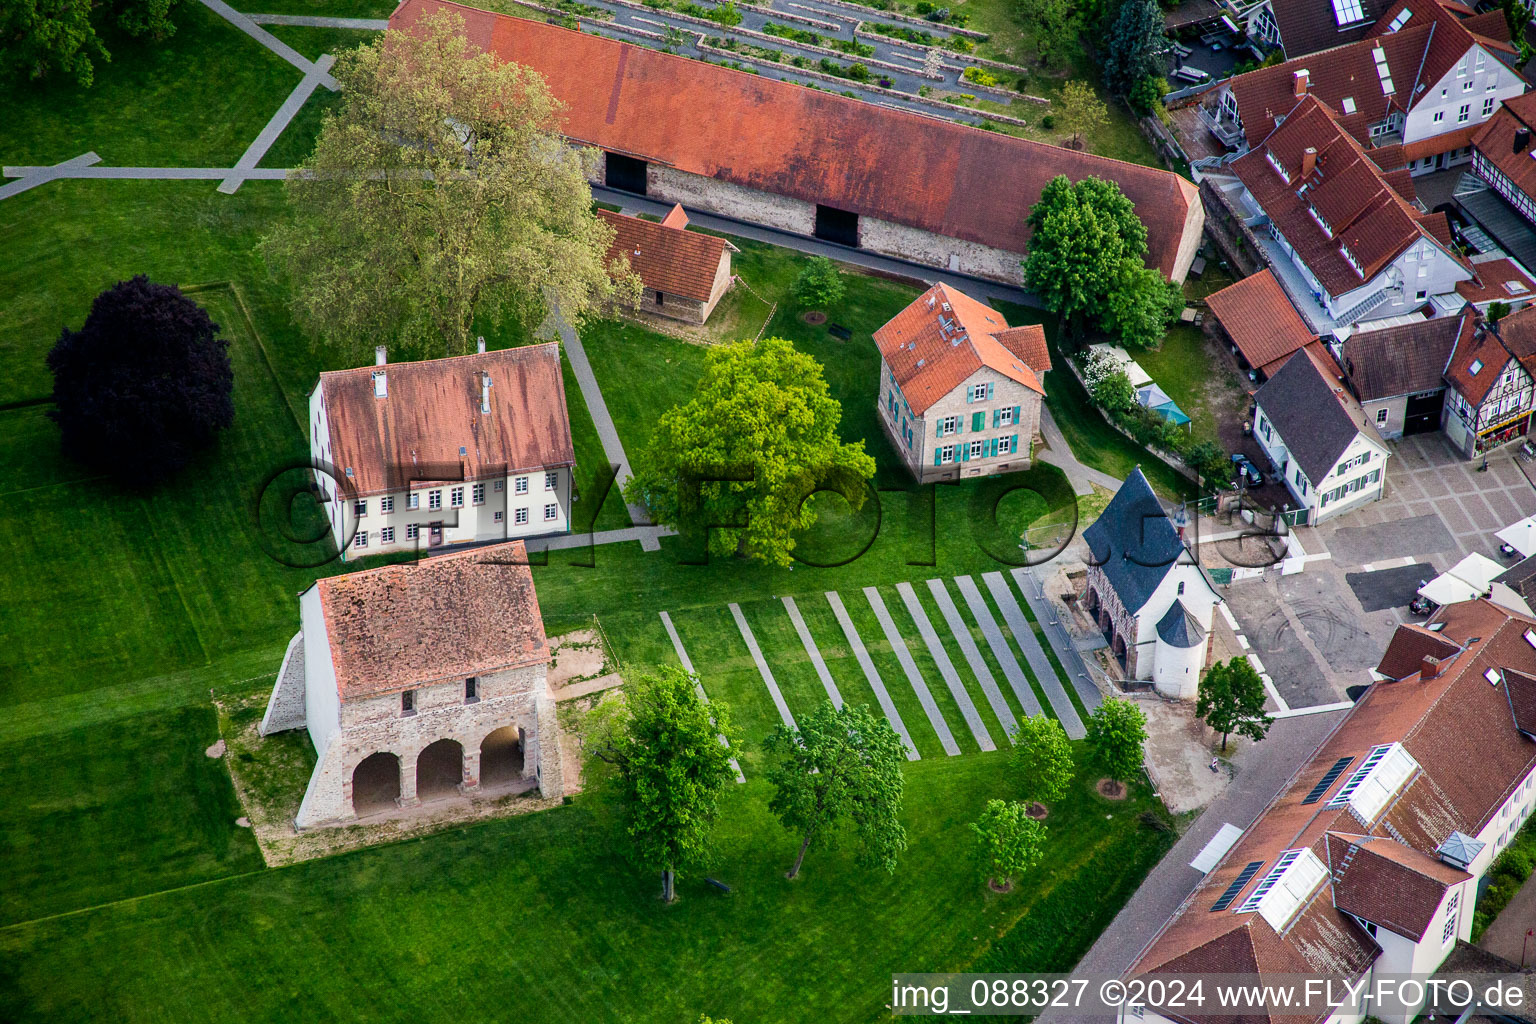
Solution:
M601 150L598 186L1020 284L1041 189L1057 175L1100 177L1146 224L1147 266L1183 281L1200 247L1197 189L1161 167L444 0L406 0L390 28L435 11L455 11L476 45L539 74L565 137Z

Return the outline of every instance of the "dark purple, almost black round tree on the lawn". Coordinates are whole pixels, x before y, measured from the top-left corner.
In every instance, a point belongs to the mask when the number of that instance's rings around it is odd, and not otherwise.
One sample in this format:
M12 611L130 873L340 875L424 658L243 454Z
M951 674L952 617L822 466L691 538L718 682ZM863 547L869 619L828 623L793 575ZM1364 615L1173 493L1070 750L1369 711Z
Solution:
M184 467L235 421L229 342L207 310L140 275L91 304L48 353L65 454L155 484Z

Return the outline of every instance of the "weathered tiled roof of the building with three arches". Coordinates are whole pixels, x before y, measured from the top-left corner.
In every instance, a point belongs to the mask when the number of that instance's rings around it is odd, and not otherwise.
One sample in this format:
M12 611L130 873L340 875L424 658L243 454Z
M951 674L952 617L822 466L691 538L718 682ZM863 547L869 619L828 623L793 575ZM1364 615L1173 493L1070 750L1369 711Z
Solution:
M315 586L344 702L550 660L522 540Z

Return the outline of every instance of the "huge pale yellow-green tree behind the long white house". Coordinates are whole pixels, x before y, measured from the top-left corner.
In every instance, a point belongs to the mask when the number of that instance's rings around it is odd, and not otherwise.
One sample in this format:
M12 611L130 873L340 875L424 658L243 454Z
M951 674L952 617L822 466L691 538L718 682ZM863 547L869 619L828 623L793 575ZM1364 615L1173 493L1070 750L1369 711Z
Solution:
M639 279L610 266L591 209L594 152L559 132L544 80L498 63L436 12L344 52L341 106L284 186L293 216L263 243L293 313L350 358L389 338L468 352L472 325L579 321Z

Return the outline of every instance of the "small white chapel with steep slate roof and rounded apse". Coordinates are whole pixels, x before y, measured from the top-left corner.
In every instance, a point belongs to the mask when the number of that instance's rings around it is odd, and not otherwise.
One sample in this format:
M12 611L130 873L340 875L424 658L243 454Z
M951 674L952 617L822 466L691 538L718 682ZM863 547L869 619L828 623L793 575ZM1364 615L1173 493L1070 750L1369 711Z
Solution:
M1083 540L1091 554L1083 609L1104 633L1126 677L1193 700L1221 599L1141 467L1083 531Z

